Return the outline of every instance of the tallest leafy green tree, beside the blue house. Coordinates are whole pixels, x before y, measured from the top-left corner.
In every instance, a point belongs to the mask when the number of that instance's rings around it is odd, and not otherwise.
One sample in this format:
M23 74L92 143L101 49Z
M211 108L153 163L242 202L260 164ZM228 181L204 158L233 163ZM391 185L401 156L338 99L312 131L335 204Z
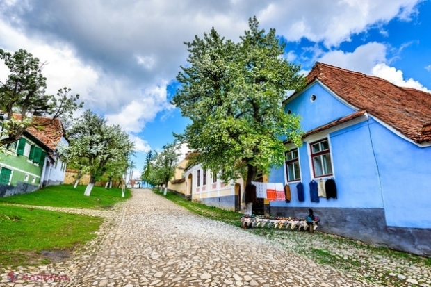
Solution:
M224 170L225 181L244 177L246 184L258 171L282 165L282 139L301 145L300 118L284 113L282 101L304 86L300 66L288 63L275 29L259 29L256 17L249 27L237 43L214 28L185 43L188 65L181 67L181 88L172 99L192 120L176 136L197 151L197 161Z

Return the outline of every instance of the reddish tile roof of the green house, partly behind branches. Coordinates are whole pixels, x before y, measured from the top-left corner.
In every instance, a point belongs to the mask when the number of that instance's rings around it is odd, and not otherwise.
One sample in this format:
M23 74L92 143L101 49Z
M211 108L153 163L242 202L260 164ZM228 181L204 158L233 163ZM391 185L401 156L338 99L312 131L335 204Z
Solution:
M21 119L21 115L19 114L13 114L13 116L17 120ZM33 122L36 125L39 124L39 126L29 126L26 131L31 133L32 136L54 151L63 136L63 125L61 124L61 121L59 119L55 119L50 124L51 118L49 117L33 116Z

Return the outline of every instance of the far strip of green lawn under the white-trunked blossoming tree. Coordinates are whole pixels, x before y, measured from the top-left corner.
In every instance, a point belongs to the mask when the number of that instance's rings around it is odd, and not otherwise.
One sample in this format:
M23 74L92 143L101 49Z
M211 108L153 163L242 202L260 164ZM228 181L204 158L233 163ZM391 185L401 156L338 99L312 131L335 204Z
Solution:
M89 197L84 196L86 186L72 185L48 186L35 192L11 197L1 197L0 202L13 204L29 204L37 206L71 207L71 208L108 208L117 202L131 197L130 190L126 190L124 198L121 197L120 188L92 188Z

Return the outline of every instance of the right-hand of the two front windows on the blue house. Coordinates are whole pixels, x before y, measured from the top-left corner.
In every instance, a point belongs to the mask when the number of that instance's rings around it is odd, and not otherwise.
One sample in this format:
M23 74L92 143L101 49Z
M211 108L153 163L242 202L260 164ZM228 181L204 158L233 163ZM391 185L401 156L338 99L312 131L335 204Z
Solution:
M311 163L313 164L314 177L325 177L332 175L332 163L330 144L325 140L310 144Z

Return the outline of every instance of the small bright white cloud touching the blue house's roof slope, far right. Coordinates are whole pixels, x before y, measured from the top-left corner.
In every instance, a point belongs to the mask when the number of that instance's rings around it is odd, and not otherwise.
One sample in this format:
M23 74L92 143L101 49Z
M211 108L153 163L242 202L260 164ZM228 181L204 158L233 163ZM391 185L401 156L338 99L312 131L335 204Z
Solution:
M398 85L400 87L414 88L416 90L431 92L428 90L428 88L424 87L421 83L415 81L412 78L404 79L404 75L400 69L389 67L384 63L377 64L375 67L373 67L373 75L386 79L387 81L390 81L394 85Z

